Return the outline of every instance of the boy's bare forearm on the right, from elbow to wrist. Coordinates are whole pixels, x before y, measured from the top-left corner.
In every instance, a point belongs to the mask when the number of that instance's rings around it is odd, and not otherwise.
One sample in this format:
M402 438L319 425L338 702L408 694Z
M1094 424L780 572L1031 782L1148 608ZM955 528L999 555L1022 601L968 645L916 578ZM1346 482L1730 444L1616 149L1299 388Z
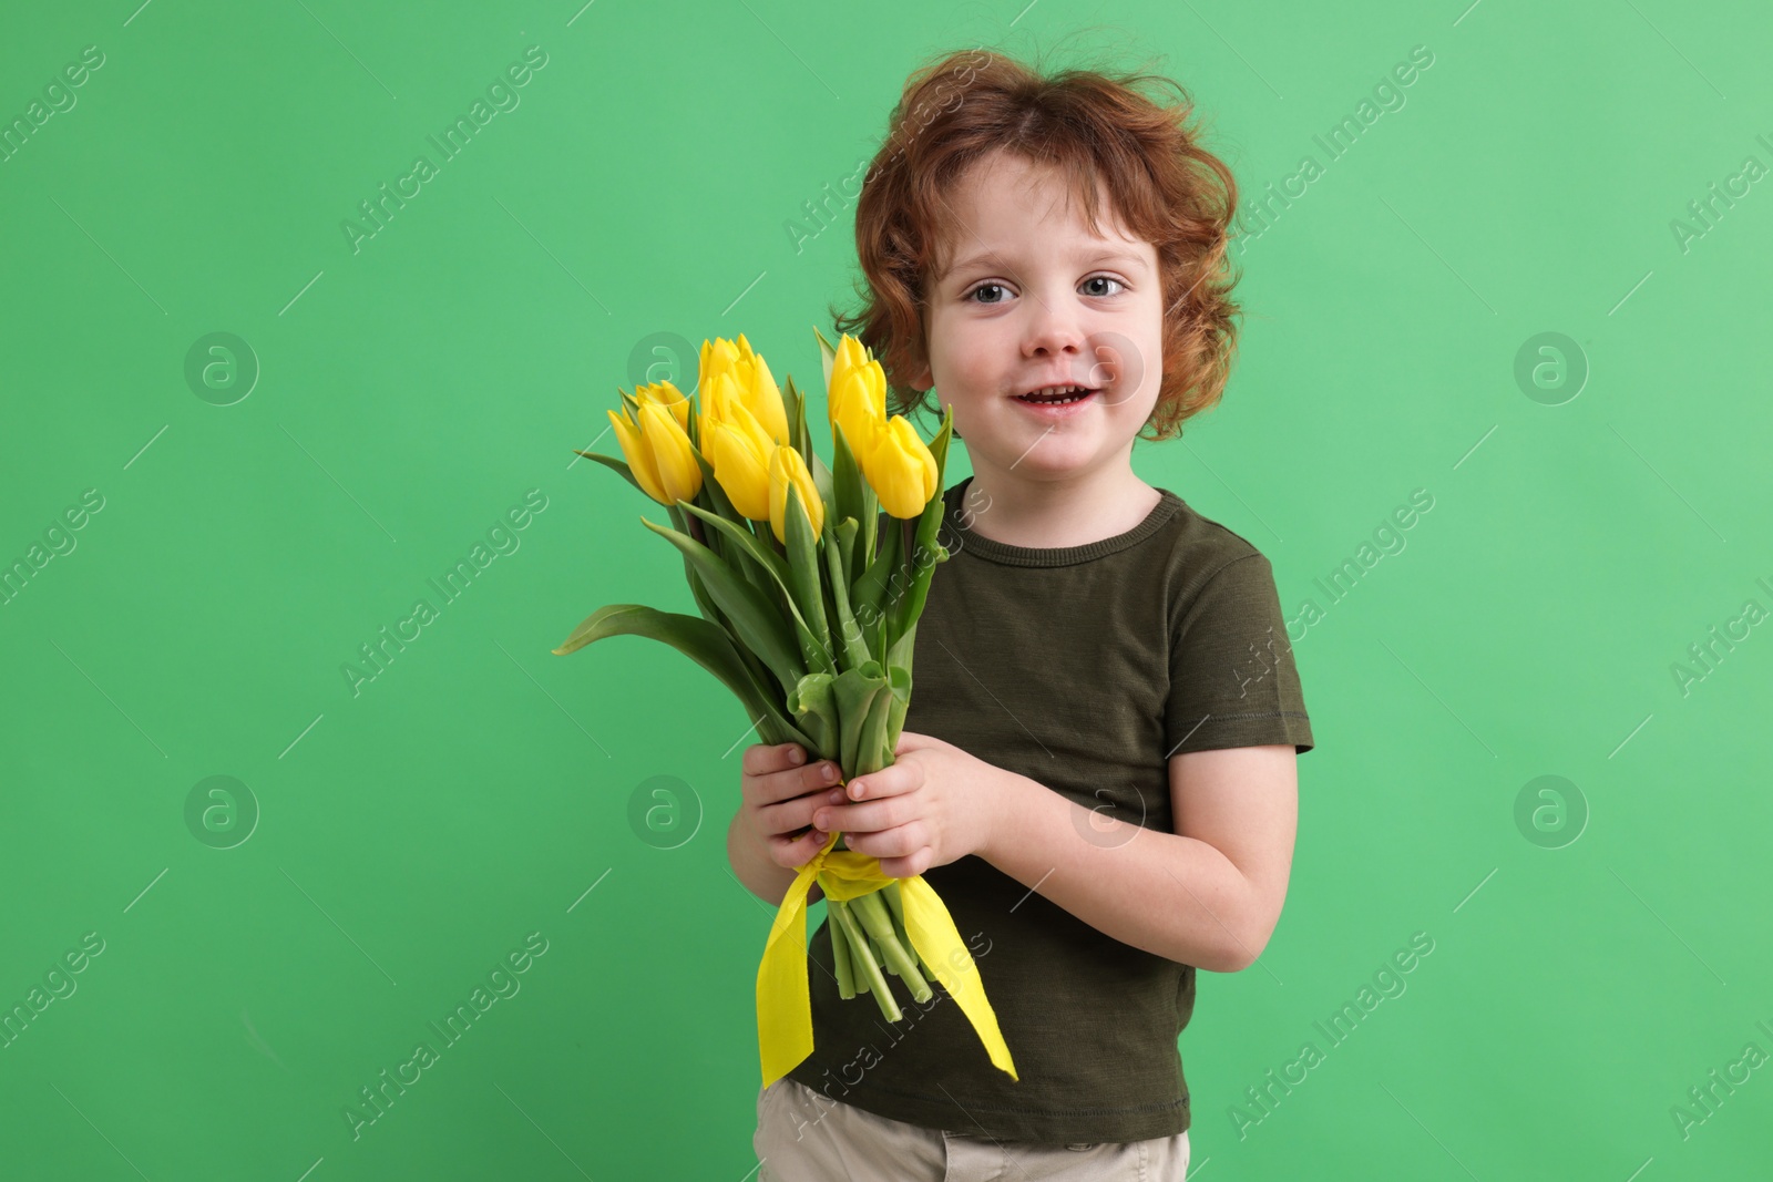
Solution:
M1215 973L1266 943L1245 916L1252 890L1206 842L1090 813L1007 769L980 858L1124 945ZM1254 946L1252 946L1254 945Z

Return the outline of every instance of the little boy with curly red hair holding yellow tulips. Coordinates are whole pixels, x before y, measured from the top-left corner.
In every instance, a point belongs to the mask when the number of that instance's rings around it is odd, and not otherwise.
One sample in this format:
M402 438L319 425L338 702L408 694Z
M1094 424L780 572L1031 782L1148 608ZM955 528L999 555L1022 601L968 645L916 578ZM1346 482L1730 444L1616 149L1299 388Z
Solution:
M1223 390L1236 186L1186 94L1142 82L950 55L863 183L867 303L839 326L894 411L954 408L973 475L943 494L895 764L846 794L748 748L729 854L769 902L830 833L926 875L1019 1077L938 984L895 987L901 1023L844 1001L821 927L761 1178L1183 1178L1195 971L1246 968L1280 916L1312 734L1273 572L1131 466Z

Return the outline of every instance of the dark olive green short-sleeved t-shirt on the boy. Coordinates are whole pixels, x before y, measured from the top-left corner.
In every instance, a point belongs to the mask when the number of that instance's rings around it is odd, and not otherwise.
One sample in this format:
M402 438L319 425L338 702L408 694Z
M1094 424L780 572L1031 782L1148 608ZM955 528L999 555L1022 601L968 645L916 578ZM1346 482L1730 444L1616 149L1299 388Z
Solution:
M918 618L906 730L1163 833L1175 831L1172 755L1312 748L1273 571L1255 546L1168 489L1117 537L1007 546L968 528L989 512L970 486L943 493L938 540L950 558ZM977 964L1019 1081L991 1065L938 982L918 1005L886 976L899 1023L869 994L842 999L828 925L808 948L814 1049L791 1079L892 1120L998 1139L1188 1129L1177 1037L1193 1012L1193 966L1103 934L977 856L924 879Z

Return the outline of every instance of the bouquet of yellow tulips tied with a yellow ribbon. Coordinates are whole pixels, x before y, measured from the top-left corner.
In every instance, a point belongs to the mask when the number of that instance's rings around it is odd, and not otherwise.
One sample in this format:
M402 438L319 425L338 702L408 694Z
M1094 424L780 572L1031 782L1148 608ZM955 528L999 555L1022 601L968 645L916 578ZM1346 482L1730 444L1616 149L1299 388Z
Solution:
M683 553L700 617L608 604L555 652L621 634L668 643L739 698L764 743L798 743L810 760L837 762L847 782L892 764L904 727L917 618L949 556L936 532L954 411L926 445L902 415L886 418L886 377L862 342L844 335L833 349L814 335L832 468L812 450L794 379L778 388L743 335L702 344L693 399L670 381L619 392L622 413L610 411L610 424L624 459L578 454L665 505L672 528L640 521ZM844 998L869 992L897 1023L886 976L920 1003L933 996L926 975L940 980L991 1061L1016 1077L941 898L922 875L883 875L876 858L833 833L784 897L757 971L764 1086L812 1051L805 925L814 881Z

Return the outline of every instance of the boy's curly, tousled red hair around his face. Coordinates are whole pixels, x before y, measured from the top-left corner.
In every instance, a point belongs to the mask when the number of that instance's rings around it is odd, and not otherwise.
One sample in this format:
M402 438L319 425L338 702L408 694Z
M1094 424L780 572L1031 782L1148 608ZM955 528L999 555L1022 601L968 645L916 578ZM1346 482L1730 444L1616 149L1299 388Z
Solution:
M1174 89L1160 101L1147 89ZM886 374L888 413L940 408L906 385L926 360L926 282L957 229L943 191L982 156L1005 149L1057 167L1099 230L1097 184L1113 211L1158 253L1163 285L1163 381L1140 438L1181 434L1225 390L1239 315L1227 246L1238 209L1230 168L1200 147L1193 101L1147 73L1064 69L1043 74L991 50L947 53L904 83L856 200L860 308L839 331L874 351ZM1151 436L1145 436L1145 431Z

